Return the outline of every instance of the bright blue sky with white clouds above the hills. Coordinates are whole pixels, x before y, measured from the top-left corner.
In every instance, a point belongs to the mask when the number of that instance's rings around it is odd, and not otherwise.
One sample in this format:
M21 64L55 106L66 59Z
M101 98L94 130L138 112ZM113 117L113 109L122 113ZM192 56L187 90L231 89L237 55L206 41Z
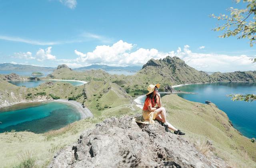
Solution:
M0 0L0 63L143 65L178 56L204 71L256 70L247 40L218 38L232 0ZM228 14L228 13L226 13Z

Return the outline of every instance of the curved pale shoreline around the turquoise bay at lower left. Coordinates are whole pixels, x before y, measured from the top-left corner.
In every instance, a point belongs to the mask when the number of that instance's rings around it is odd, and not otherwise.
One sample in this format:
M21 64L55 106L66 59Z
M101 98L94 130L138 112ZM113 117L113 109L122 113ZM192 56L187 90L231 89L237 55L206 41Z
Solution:
M80 114L80 117L81 117L80 120L88 118L88 117L93 117L93 114L91 113L91 111L86 107L83 108L81 103L74 101L74 100L68 101L67 99L57 99L57 100L39 99L36 101L19 101L19 102L16 102L16 103L10 104L8 106L4 106L4 107L18 105L20 103L42 103L42 102L49 102L49 103L50 102L59 102L59 103L65 103L65 104L72 105L78 110L78 113ZM1 108L4 108L4 107L1 107Z

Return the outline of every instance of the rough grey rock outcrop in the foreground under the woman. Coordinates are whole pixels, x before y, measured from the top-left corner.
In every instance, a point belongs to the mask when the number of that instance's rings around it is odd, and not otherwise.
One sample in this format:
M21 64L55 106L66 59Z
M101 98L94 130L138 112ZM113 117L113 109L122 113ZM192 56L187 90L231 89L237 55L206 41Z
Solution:
M48 168L82 167L227 167L206 157L182 136L160 124L142 125L132 117L112 118L86 130L76 143L55 154Z

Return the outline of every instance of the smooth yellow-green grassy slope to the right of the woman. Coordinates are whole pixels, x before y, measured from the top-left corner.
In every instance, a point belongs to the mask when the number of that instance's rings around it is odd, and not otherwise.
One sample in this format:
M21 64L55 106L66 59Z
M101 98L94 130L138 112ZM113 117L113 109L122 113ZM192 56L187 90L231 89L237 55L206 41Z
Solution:
M242 136L231 126L223 111L216 105L187 101L177 95L162 97L167 119L186 132L186 138L195 144L211 140L212 152L232 167L255 167L256 143Z

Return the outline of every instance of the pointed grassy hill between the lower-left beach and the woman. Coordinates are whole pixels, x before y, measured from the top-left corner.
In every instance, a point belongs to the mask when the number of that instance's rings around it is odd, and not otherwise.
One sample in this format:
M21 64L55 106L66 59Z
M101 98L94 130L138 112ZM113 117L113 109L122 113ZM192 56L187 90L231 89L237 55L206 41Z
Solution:
M85 84L84 92L85 105L95 116L116 116L137 109L131 97L116 83L90 81Z

